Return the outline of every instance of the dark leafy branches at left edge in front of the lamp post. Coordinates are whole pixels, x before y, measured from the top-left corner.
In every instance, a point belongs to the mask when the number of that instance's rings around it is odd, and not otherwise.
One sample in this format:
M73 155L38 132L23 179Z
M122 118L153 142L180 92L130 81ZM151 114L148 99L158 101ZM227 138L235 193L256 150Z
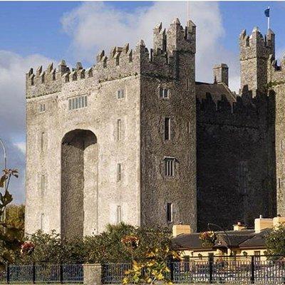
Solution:
M13 197L9 192L11 177L18 177L18 170L5 169L0 177L0 187L4 188L4 193L0 192L0 266L3 267L14 261L14 251L21 245L21 232L16 227L3 221L6 207L12 202Z

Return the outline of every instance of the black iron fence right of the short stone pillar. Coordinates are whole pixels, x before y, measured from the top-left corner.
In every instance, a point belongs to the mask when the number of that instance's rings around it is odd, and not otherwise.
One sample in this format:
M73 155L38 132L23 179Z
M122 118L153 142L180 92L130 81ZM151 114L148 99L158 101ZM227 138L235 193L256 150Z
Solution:
M104 264L103 284L120 284L131 264ZM208 259L169 264L173 283L285 284L285 261Z

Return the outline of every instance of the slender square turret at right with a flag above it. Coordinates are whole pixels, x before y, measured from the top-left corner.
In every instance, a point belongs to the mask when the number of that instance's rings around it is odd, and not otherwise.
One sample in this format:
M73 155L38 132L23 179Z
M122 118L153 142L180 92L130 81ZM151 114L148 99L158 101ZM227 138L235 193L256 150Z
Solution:
M251 36L244 30L239 36L239 58L241 64L241 92L249 90L252 95L264 92L267 84L267 62L275 56L275 35L269 29L265 37L255 27Z

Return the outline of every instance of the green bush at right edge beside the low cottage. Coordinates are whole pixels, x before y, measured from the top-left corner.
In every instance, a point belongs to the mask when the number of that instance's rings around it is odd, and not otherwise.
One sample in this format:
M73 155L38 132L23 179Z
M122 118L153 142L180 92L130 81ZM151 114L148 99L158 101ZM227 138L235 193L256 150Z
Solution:
M271 259L285 257L285 224L271 229L265 237L266 255Z

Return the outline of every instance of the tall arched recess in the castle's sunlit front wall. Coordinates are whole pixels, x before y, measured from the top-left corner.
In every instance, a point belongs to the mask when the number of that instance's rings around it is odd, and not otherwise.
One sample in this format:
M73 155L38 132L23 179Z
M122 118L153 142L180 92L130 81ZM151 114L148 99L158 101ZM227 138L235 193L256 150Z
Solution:
M97 138L90 130L72 130L61 144L61 237L83 237L85 197L97 185ZM91 200L92 197L90 198ZM93 204L94 207L94 204ZM95 213L94 213L95 215ZM93 226L95 226L95 219Z

